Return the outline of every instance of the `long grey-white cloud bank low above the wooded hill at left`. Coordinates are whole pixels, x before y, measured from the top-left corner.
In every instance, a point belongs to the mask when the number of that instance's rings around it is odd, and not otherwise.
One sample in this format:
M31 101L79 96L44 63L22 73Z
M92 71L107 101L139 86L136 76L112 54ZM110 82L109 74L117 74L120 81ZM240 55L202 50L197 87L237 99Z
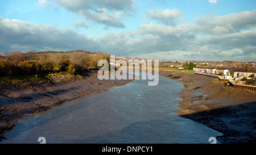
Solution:
M68 29L3 18L0 18L0 42L5 45L1 52L94 48L92 39Z

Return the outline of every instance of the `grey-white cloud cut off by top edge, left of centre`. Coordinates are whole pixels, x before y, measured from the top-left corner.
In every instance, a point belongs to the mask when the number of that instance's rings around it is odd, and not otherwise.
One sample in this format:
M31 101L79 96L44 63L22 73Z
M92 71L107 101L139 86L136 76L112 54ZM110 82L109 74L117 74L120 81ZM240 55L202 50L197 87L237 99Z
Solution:
M135 8L134 0L55 0L60 6L78 15L84 16L86 20L104 24L105 27L125 27L121 22L122 16L133 14Z

